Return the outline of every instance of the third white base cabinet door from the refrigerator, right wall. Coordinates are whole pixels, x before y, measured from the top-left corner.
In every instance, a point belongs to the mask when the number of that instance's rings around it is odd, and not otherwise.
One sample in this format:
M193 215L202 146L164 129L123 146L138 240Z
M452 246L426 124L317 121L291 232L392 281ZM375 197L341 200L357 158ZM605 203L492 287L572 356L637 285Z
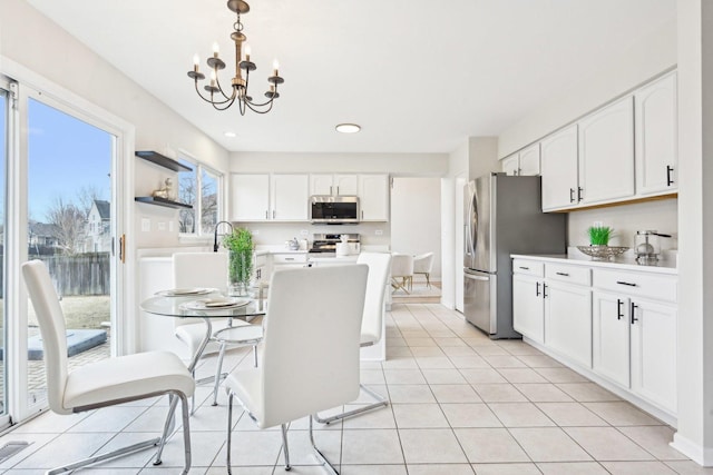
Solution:
M592 299L592 367L629 387L629 300L602 291L594 291Z

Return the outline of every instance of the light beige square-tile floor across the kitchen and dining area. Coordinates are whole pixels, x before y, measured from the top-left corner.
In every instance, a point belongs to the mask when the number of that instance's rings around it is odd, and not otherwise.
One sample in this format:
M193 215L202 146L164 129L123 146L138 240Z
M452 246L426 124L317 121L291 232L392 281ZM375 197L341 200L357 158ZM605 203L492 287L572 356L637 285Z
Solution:
M438 304L395 304L388 319L388 359L362 365L362 380L391 405L329 426L318 445L344 475L713 474L668 446L673 429L517 340L492 342ZM199 376L212 373L206 358ZM227 365L251 365L247 349ZM191 474L226 473L226 397L191 419ZM363 400L362 400L363 403ZM356 402L359 404L359 402ZM340 408L341 409L341 408ZM88 414L43 414L0 437L31 445L0 462L0 473L40 474L95 451L160 431L166 398ZM260 431L244 414L235 420L235 474L284 473L277 429ZM322 474L309 448L306 419L290 427L293 472ZM177 474L180 434L164 464L141 452L85 469L90 474Z

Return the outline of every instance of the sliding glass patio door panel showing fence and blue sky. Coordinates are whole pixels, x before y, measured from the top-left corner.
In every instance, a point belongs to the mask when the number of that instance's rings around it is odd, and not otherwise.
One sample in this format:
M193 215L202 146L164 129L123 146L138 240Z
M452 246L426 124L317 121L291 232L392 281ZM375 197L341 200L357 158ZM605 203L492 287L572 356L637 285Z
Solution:
M69 95L69 92L62 92ZM13 191L6 209L13 258L8 288L17 342L12 417L22 420L47 405L37 317L20 278L20 264L42 260L61 297L70 367L130 352L123 311L126 278L126 135L129 126L80 99L19 86L19 147L12 150ZM68 106L71 103L72 106ZM70 139L68 139L70 138ZM131 201L133 202L133 201ZM11 241L11 243L10 243ZM19 288L16 284L20 283Z

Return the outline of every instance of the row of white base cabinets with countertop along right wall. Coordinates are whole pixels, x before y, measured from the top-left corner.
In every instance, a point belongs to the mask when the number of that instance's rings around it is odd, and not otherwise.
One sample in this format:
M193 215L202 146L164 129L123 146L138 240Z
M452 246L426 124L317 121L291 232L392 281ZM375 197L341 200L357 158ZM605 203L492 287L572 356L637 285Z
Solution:
M675 426L675 260L510 257L512 321L522 339Z

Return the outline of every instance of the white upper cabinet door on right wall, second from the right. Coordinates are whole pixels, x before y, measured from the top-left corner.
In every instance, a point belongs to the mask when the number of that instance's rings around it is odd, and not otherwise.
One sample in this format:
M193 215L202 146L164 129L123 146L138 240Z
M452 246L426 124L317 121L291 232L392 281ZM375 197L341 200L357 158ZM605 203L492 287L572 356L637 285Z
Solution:
M627 96L590 113L579 127L582 204L634 196L634 102Z

